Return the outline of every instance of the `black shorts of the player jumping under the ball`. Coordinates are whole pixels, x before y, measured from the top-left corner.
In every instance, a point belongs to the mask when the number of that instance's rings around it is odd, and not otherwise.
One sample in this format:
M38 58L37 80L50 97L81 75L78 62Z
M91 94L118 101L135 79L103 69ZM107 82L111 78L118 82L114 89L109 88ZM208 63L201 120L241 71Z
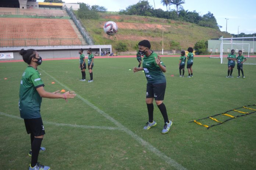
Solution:
M155 100L164 100L166 82L159 84L147 83L146 98L154 98Z

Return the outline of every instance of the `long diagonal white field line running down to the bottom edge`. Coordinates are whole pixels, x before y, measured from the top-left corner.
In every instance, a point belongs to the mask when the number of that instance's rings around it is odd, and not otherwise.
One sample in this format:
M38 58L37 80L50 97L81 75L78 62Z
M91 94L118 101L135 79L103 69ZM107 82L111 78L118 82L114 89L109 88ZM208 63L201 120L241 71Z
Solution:
M61 82L59 82L57 79L55 79L53 76L49 75L48 73L46 73L43 69L39 68L42 72L44 72L46 75L48 75L49 77L51 77L55 82L59 83L62 87L64 87L65 89L69 90L69 91L73 91L70 88L68 88L67 86L65 86L64 84L62 84ZM77 97L79 99L81 99L83 102L85 102L87 105L89 105L90 107L92 107L93 109L95 109L95 111L97 111L98 113L100 113L102 116L104 116L106 119L110 120L110 122L114 123L119 130L125 131L127 134L129 134L132 138L134 138L136 141L138 141L141 145L143 145L145 148L149 149L150 151L152 151L154 154L156 154L157 156L159 156L161 159L165 160L168 164L170 164L171 166L173 166L175 169L177 170L186 170L185 167L183 167L181 164L177 163L175 160L171 159L170 157L166 156L164 153L162 153L161 151L159 151L157 148L155 148L153 145L151 145L149 142L143 140L141 137L139 137L138 135L136 135L135 133L133 133L131 130L129 130L127 127L123 126L121 123L119 123L117 120L115 120L113 117L109 116L107 113L105 113L104 111L100 110L99 108L97 108L95 105L93 105L92 103L90 103L88 100L84 99L83 97L81 97L81 95L77 94Z

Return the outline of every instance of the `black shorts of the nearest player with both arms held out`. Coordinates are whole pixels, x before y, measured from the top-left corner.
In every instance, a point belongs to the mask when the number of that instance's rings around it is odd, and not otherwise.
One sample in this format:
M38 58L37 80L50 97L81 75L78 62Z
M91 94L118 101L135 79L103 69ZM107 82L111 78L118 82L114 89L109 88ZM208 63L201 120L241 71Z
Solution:
M24 122L28 134L31 133L34 136L41 136L45 134L42 117L35 119L24 119Z

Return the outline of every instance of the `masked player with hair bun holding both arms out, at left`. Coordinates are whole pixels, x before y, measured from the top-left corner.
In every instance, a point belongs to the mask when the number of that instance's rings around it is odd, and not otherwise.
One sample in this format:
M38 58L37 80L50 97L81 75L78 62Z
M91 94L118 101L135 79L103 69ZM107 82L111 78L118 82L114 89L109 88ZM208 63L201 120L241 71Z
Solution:
M38 163L39 152L45 151L45 148L41 147L45 134L40 115L42 97L67 99L74 98L76 94L72 94L69 91L64 94L60 94L58 91L53 93L45 91L43 88L45 85L37 70L38 65L42 64L42 58L38 52L34 49L22 49L19 54L28 64L22 74L19 88L19 111L21 118L24 119L26 131L30 134L31 150L29 151L29 156L31 156L31 164L29 165L29 170L49 170L49 166L43 166Z

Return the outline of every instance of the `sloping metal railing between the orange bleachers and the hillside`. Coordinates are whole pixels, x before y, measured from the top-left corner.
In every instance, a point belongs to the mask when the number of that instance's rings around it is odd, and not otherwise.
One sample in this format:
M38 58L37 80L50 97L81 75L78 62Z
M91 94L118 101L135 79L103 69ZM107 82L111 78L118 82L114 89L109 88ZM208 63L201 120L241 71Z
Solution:
M89 45L93 45L94 41L93 41L92 37L89 35L89 33L87 31L84 31L85 28L83 28L82 24L78 21L77 17L75 17L75 15L72 11L72 6L70 8L68 8L67 6L64 6L63 9L65 9L67 11L68 15L70 15L72 21L77 26L79 32L82 34L86 43L89 44Z

